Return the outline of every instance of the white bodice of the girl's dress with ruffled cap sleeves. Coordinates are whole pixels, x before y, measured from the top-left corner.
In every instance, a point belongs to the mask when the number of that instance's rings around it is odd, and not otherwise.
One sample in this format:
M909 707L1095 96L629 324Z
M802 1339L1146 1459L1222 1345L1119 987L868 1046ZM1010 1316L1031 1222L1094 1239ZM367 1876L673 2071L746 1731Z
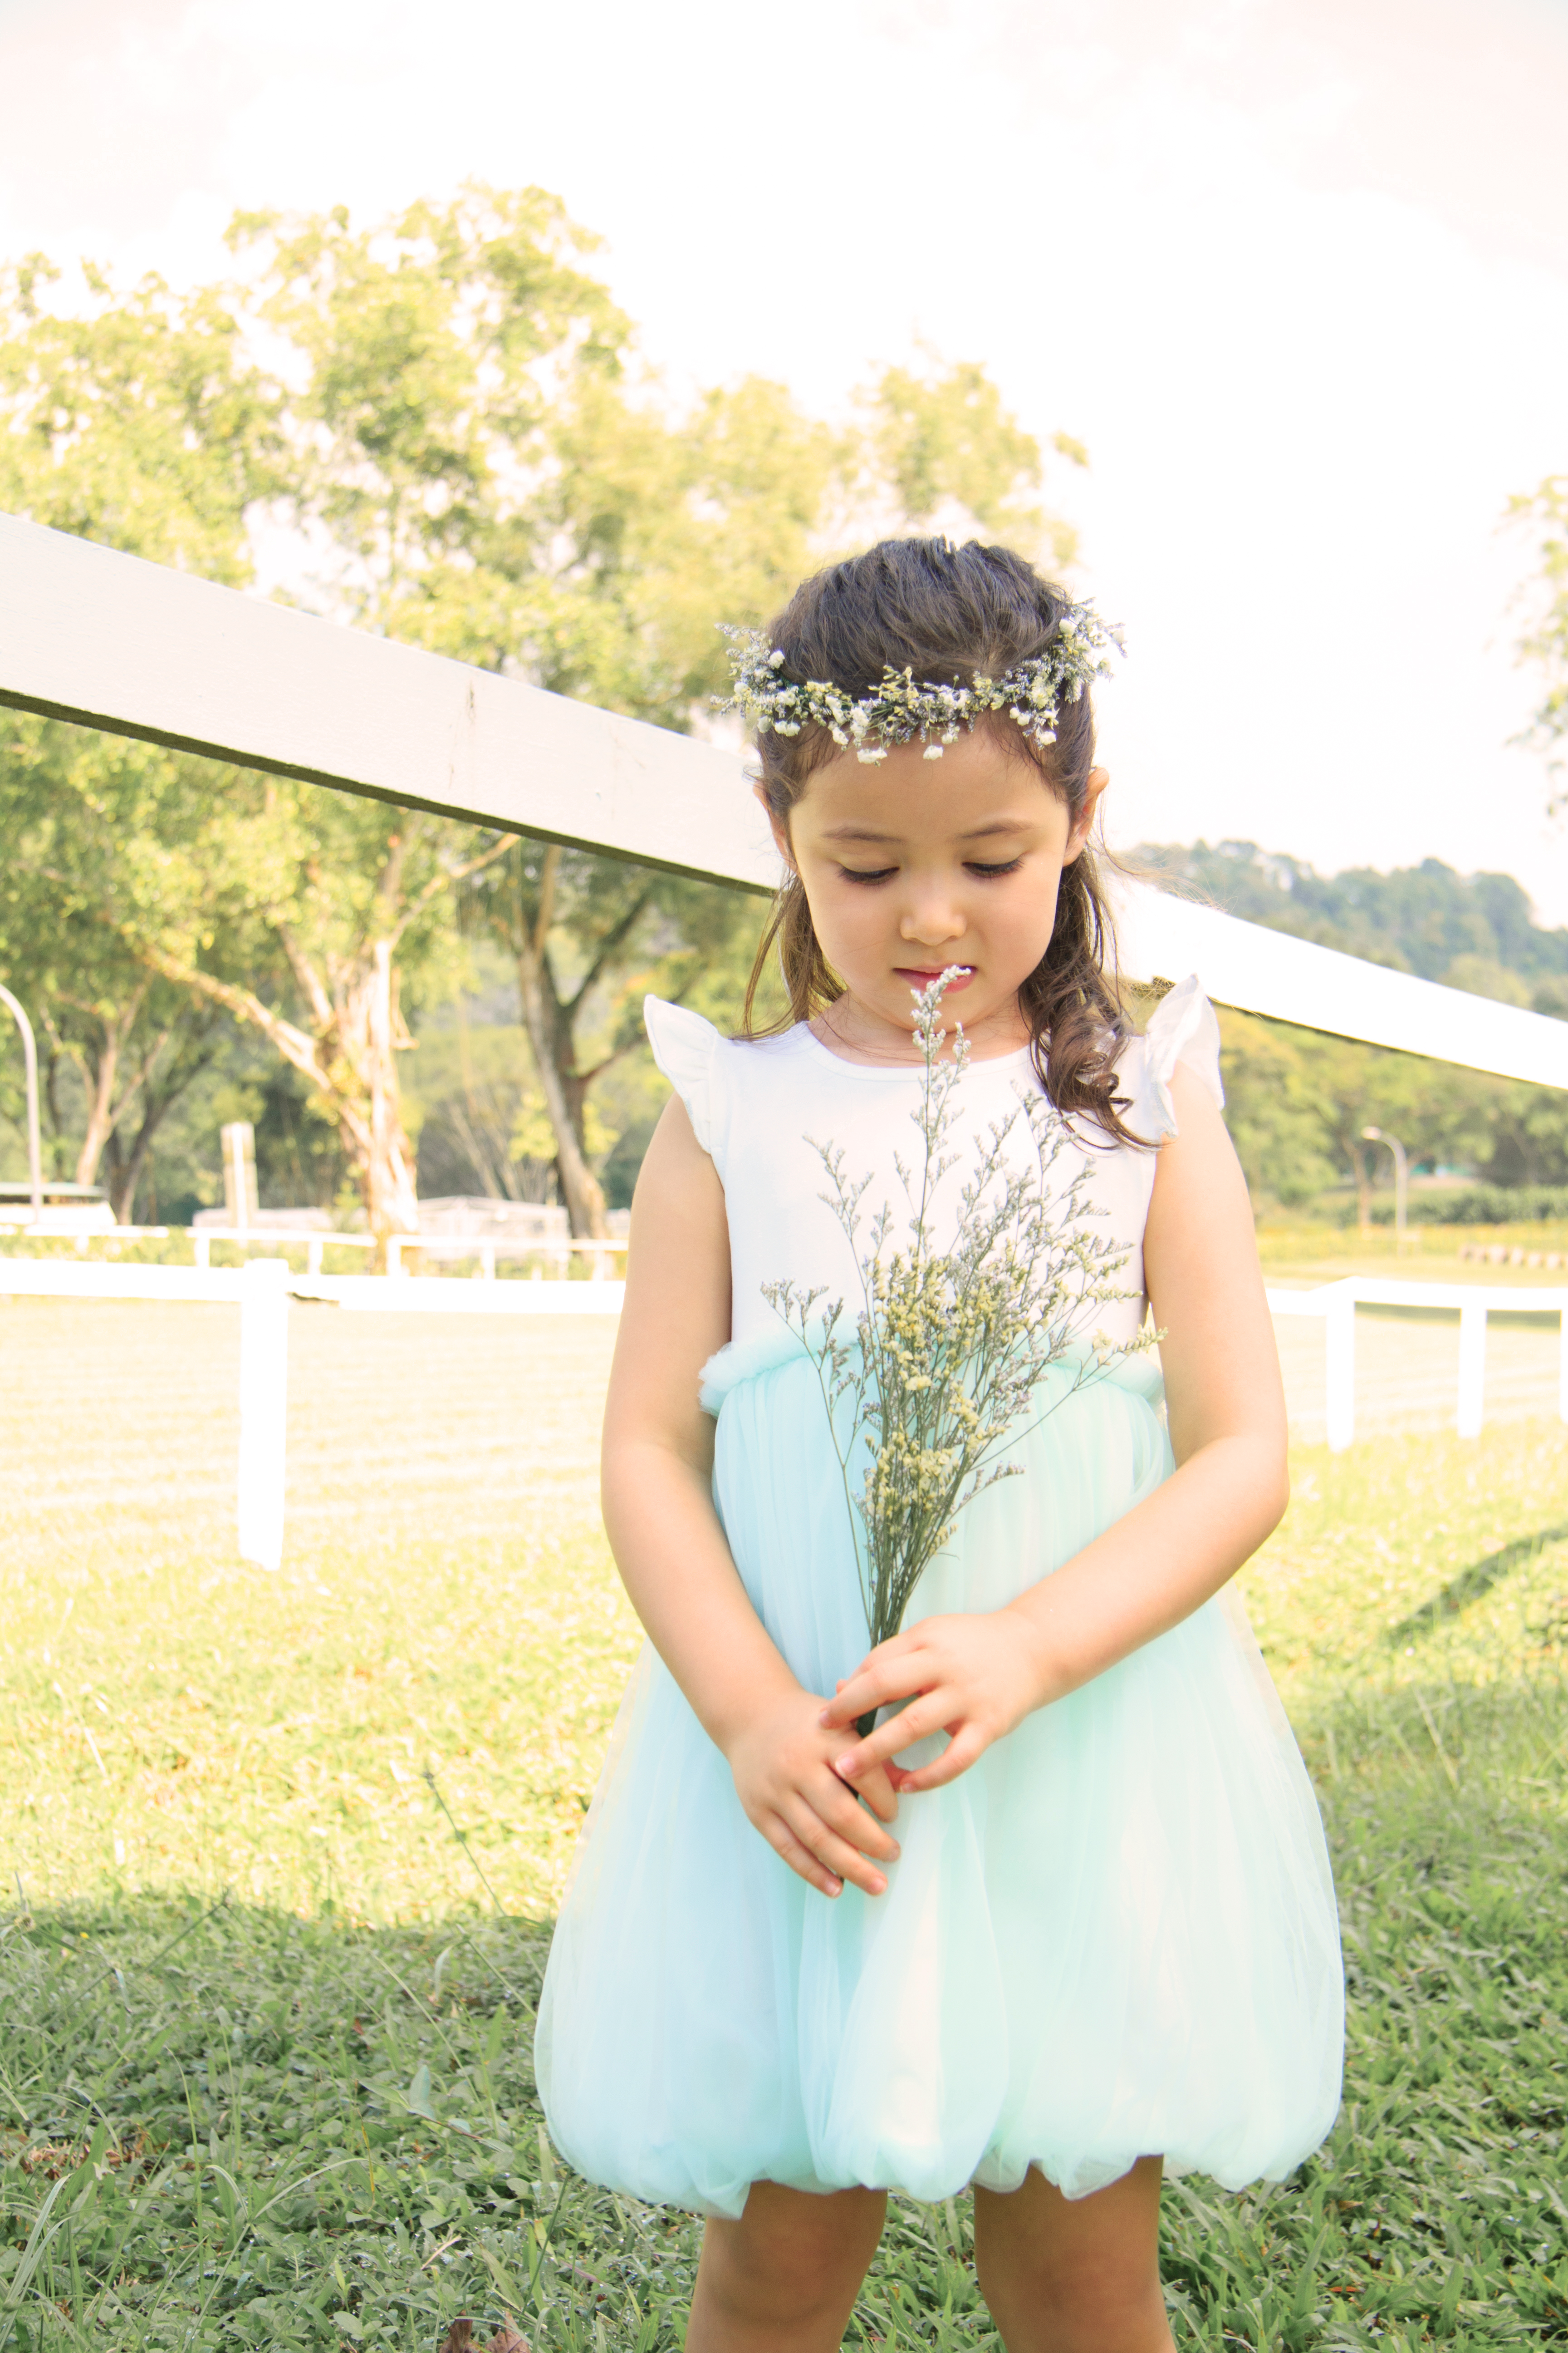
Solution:
M691 1127L724 1186L729 1214L729 1264L733 1280L731 1339L762 1341L778 1332L778 1315L762 1294L764 1282L792 1280L804 1289L823 1287L827 1299L853 1308L860 1299L856 1252L832 1207L827 1172L816 1146L844 1151L846 1174L870 1174L863 1200L858 1249L870 1247L870 1221L882 1202L893 1209L893 1245L905 1240L907 1205L893 1167L900 1158L919 1174L924 1146L912 1122L922 1099L919 1064L844 1061L802 1024L783 1038L736 1040L703 1021L684 1005L644 1000L644 1019L654 1061L682 1096ZM1175 1134L1171 1073L1185 1061L1208 1087L1215 1104L1220 1087L1220 1026L1194 976L1185 979L1157 1005L1143 1038L1131 1038L1121 1052L1121 1094L1128 1099L1126 1125L1147 1136L1150 1146ZM957 1198L973 1172L990 1129L1018 1113L1020 1094L1037 1094L1039 1080L1027 1047L990 1061L971 1061L957 1089L957 1120L950 1151L957 1167L936 1198L931 1233L947 1247L957 1224ZM1081 1160L1088 1167L1086 1198L1103 1219L1095 1233L1126 1252L1114 1278L1126 1301L1100 1308L1095 1329L1110 1339L1131 1339L1143 1322L1143 1228L1154 1186L1154 1151L1114 1144L1088 1120L1074 1122ZM1027 1127L1018 1118L1016 1165L1030 1153ZM1053 1181L1065 1186L1063 1153Z

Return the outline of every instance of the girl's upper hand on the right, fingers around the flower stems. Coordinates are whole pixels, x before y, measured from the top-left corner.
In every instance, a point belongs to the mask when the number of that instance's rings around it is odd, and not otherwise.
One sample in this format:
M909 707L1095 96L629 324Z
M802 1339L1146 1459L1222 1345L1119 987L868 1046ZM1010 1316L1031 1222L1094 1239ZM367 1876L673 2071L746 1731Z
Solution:
M976 1617L922 1619L907 1633L879 1642L849 1682L820 1713L827 1734L837 1734L832 1767L856 1788L867 1774L884 1777L898 1791L940 1788L983 1755L992 1741L1053 1699L1041 1661L1039 1628L1016 1609L990 1609ZM846 1727L872 1708L898 1699L910 1706L867 1732L853 1746L842 1744ZM912 1748L929 1732L947 1732L950 1746L936 1762L905 1772L891 1758Z

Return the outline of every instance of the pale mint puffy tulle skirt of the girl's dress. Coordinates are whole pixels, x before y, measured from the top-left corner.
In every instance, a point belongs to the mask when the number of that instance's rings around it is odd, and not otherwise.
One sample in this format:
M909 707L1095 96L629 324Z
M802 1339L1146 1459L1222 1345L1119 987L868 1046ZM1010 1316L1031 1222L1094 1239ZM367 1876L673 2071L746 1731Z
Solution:
M1067 1388L1067 1374L1048 1374ZM816 1369L708 1372L715 1499L745 1588L813 1692L867 1647ZM1016 1442L907 1624L997 1609L1171 1471L1133 1360ZM940 1748L910 1748L922 1762ZM1276 2181L1340 2097L1324 1831L1239 1602L1208 1602L905 1798L889 1892L806 1887L644 1649L583 1828L538 2014L550 2134L590 2181L741 2214L752 2181L938 2200L1030 2165L1070 2198L1140 2155Z

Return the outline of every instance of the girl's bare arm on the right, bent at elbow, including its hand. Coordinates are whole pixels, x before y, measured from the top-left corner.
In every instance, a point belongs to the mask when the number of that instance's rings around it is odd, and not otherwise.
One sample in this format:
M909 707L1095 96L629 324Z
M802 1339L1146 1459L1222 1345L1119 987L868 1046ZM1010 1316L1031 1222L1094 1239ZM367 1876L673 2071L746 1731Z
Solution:
M1178 1068L1171 1092L1180 1134L1159 1153L1143 1252L1175 1473L1006 1609L926 1619L875 1649L823 1722L844 1734L879 1704L910 1706L844 1741L846 1779L945 1729L947 1751L893 1767L893 1784L952 1781L1032 1708L1190 1617L1284 1515L1286 1407L1246 1184L1204 1085Z

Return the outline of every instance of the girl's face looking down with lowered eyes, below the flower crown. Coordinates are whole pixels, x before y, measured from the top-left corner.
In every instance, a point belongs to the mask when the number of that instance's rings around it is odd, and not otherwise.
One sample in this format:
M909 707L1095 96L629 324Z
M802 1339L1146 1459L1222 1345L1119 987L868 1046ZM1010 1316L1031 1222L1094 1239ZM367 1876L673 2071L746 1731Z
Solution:
M1018 991L1046 953L1063 866L1105 784L1093 769L1074 824L1034 762L990 729L961 734L940 760L900 744L875 767L853 753L818 767L773 840L846 988L823 1016L832 1042L867 1061L917 1059L912 991L966 965L943 1009L978 1054L1027 1045Z

